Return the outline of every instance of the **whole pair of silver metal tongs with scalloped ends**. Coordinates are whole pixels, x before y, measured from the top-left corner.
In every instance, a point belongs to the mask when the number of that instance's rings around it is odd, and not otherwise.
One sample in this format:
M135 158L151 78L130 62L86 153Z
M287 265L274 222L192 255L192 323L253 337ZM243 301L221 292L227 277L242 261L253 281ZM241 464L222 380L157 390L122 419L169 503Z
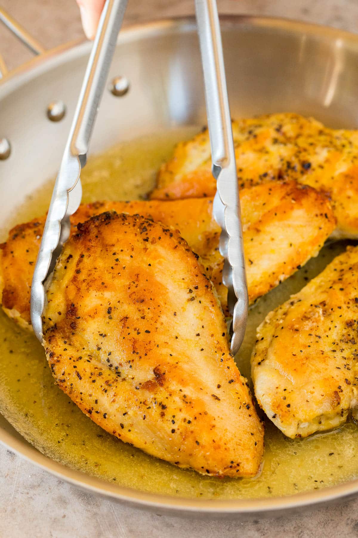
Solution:
M75 116L55 182L31 286L31 323L42 341L46 288L56 259L70 235L70 215L81 203L81 168L86 164L91 133L128 0L106 0L79 94ZM212 170L217 180L213 215L221 226L223 283L232 314L231 352L242 344L247 321L247 285L240 202L225 81L220 25L215 0L195 0L201 49Z

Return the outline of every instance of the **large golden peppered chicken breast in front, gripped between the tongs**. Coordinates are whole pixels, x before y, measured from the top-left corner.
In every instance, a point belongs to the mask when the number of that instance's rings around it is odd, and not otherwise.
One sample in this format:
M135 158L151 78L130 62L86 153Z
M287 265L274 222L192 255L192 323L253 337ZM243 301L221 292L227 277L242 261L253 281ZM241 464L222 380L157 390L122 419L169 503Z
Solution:
M64 246L47 298L49 365L94 422L203 475L257 473L264 428L211 283L178 231L91 218Z

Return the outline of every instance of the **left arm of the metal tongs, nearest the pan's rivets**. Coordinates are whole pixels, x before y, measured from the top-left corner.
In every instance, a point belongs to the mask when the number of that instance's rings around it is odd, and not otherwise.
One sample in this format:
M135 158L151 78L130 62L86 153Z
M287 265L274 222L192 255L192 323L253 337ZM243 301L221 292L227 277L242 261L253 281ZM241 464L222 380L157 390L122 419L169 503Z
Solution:
M126 6L127 0L106 0L57 174L31 286L31 323L40 342L46 280L70 235L69 216L81 203L81 167L86 164L94 120Z

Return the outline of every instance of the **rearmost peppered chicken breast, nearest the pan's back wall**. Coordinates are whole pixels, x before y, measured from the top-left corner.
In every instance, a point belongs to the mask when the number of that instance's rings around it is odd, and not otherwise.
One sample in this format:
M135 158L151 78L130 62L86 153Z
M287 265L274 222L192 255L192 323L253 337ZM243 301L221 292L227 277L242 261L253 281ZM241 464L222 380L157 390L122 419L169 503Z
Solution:
M232 133L241 188L273 179L315 187L332 202L334 237L358 237L358 131L328 129L297 114L272 114L234 121ZM215 190L205 129L177 145L151 198L214 196Z

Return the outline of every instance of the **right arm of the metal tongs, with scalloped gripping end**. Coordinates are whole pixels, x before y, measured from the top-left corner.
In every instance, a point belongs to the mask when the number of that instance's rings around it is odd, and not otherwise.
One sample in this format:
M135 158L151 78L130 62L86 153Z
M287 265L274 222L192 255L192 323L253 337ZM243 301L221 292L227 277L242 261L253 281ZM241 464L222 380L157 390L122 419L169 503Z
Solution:
M232 314L231 352L235 355L244 339L249 306L235 149L216 1L195 0L195 10L211 160L217 183L213 215L222 228L223 283L228 287L228 306Z

